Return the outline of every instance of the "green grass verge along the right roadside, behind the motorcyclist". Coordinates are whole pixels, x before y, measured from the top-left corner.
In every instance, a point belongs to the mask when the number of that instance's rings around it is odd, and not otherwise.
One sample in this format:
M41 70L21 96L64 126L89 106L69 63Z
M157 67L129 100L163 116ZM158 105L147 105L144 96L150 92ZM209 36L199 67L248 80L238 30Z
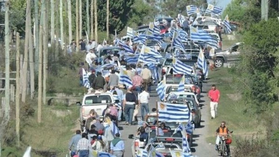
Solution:
M207 138L209 143L215 143L216 137L214 134L222 121L225 121L228 129L233 131L233 141L239 136L251 137L256 133L264 133L264 126L259 123L257 116L243 113L245 100L241 98L240 91L233 87L232 81L233 77L229 74L228 68L216 68L213 72L210 72L208 84L217 86L221 98L218 104L217 117L209 121L209 132L212 133ZM234 144L232 142L232 145Z

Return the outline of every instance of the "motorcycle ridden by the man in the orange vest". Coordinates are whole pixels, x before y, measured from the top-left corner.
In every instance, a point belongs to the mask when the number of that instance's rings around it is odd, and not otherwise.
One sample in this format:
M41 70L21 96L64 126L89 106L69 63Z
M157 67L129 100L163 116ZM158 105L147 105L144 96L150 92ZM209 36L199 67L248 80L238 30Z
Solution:
M230 133L232 133L232 131ZM219 147L218 153L220 153L221 156L230 156L230 144L231 143L232 143L232 140L230 138L230 135L220 136L220 143L218 145L218 147Z

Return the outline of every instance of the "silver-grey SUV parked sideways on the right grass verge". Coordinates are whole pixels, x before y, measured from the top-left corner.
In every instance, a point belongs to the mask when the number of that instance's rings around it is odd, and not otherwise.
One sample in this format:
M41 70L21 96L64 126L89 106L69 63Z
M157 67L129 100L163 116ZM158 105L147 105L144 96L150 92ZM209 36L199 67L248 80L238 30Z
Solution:
M215 51L216 59L214 60L215 67L221 67L224 63L232 63L239 60L239 47L243 42L237 42L224 51Z

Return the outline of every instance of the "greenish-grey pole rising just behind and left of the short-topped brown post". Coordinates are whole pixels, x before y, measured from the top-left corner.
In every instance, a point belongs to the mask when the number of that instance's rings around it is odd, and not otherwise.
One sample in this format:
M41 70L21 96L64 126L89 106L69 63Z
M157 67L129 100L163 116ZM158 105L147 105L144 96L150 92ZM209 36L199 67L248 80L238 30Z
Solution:
M39 67L39 8L38 0L34 0L35 4L35 71L38 71Z

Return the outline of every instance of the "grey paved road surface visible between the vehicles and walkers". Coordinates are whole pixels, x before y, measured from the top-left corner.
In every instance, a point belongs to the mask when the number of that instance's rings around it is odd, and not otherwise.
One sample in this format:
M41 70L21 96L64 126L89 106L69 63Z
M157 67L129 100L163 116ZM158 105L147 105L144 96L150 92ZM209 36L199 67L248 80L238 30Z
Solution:
M204 83L203 91L205 91L205 92L202 93L202 98L201 98L202 99L201 104L204 104L204 106L202 107L202 110L201 110L201 113L202 113L201 127L196 128L194 130L194 137L193 137L194 142L193 142L193 147L191 148L191 150L193 152L192 154L196 155L198 157L218 156L217 152L214 150L214 144L209 144L208 142L206 142L206 136L209 134L213 134L213 133L208 132L208 121L211 119L210 119L209 102L208 102L208 98L206 97L206 92L209 89L210 89L210 85L207 85ZM152 87L152 91L151 91L150 95L151 95L151 99L149 101L149 108L151 110L152 108L155 108L155 102L159 99L157 92L155 91L155 86ZM138 117L140 117L140 111L139 111ZM121 138L123 140L125 140L125 155L124 156L131 156L131 143L133 140L128 139L128 135L135 133L135 131L137 129L137 125L127 126L127 125L124 125L123 122L121 122L119 124L119 129L121 130Z

